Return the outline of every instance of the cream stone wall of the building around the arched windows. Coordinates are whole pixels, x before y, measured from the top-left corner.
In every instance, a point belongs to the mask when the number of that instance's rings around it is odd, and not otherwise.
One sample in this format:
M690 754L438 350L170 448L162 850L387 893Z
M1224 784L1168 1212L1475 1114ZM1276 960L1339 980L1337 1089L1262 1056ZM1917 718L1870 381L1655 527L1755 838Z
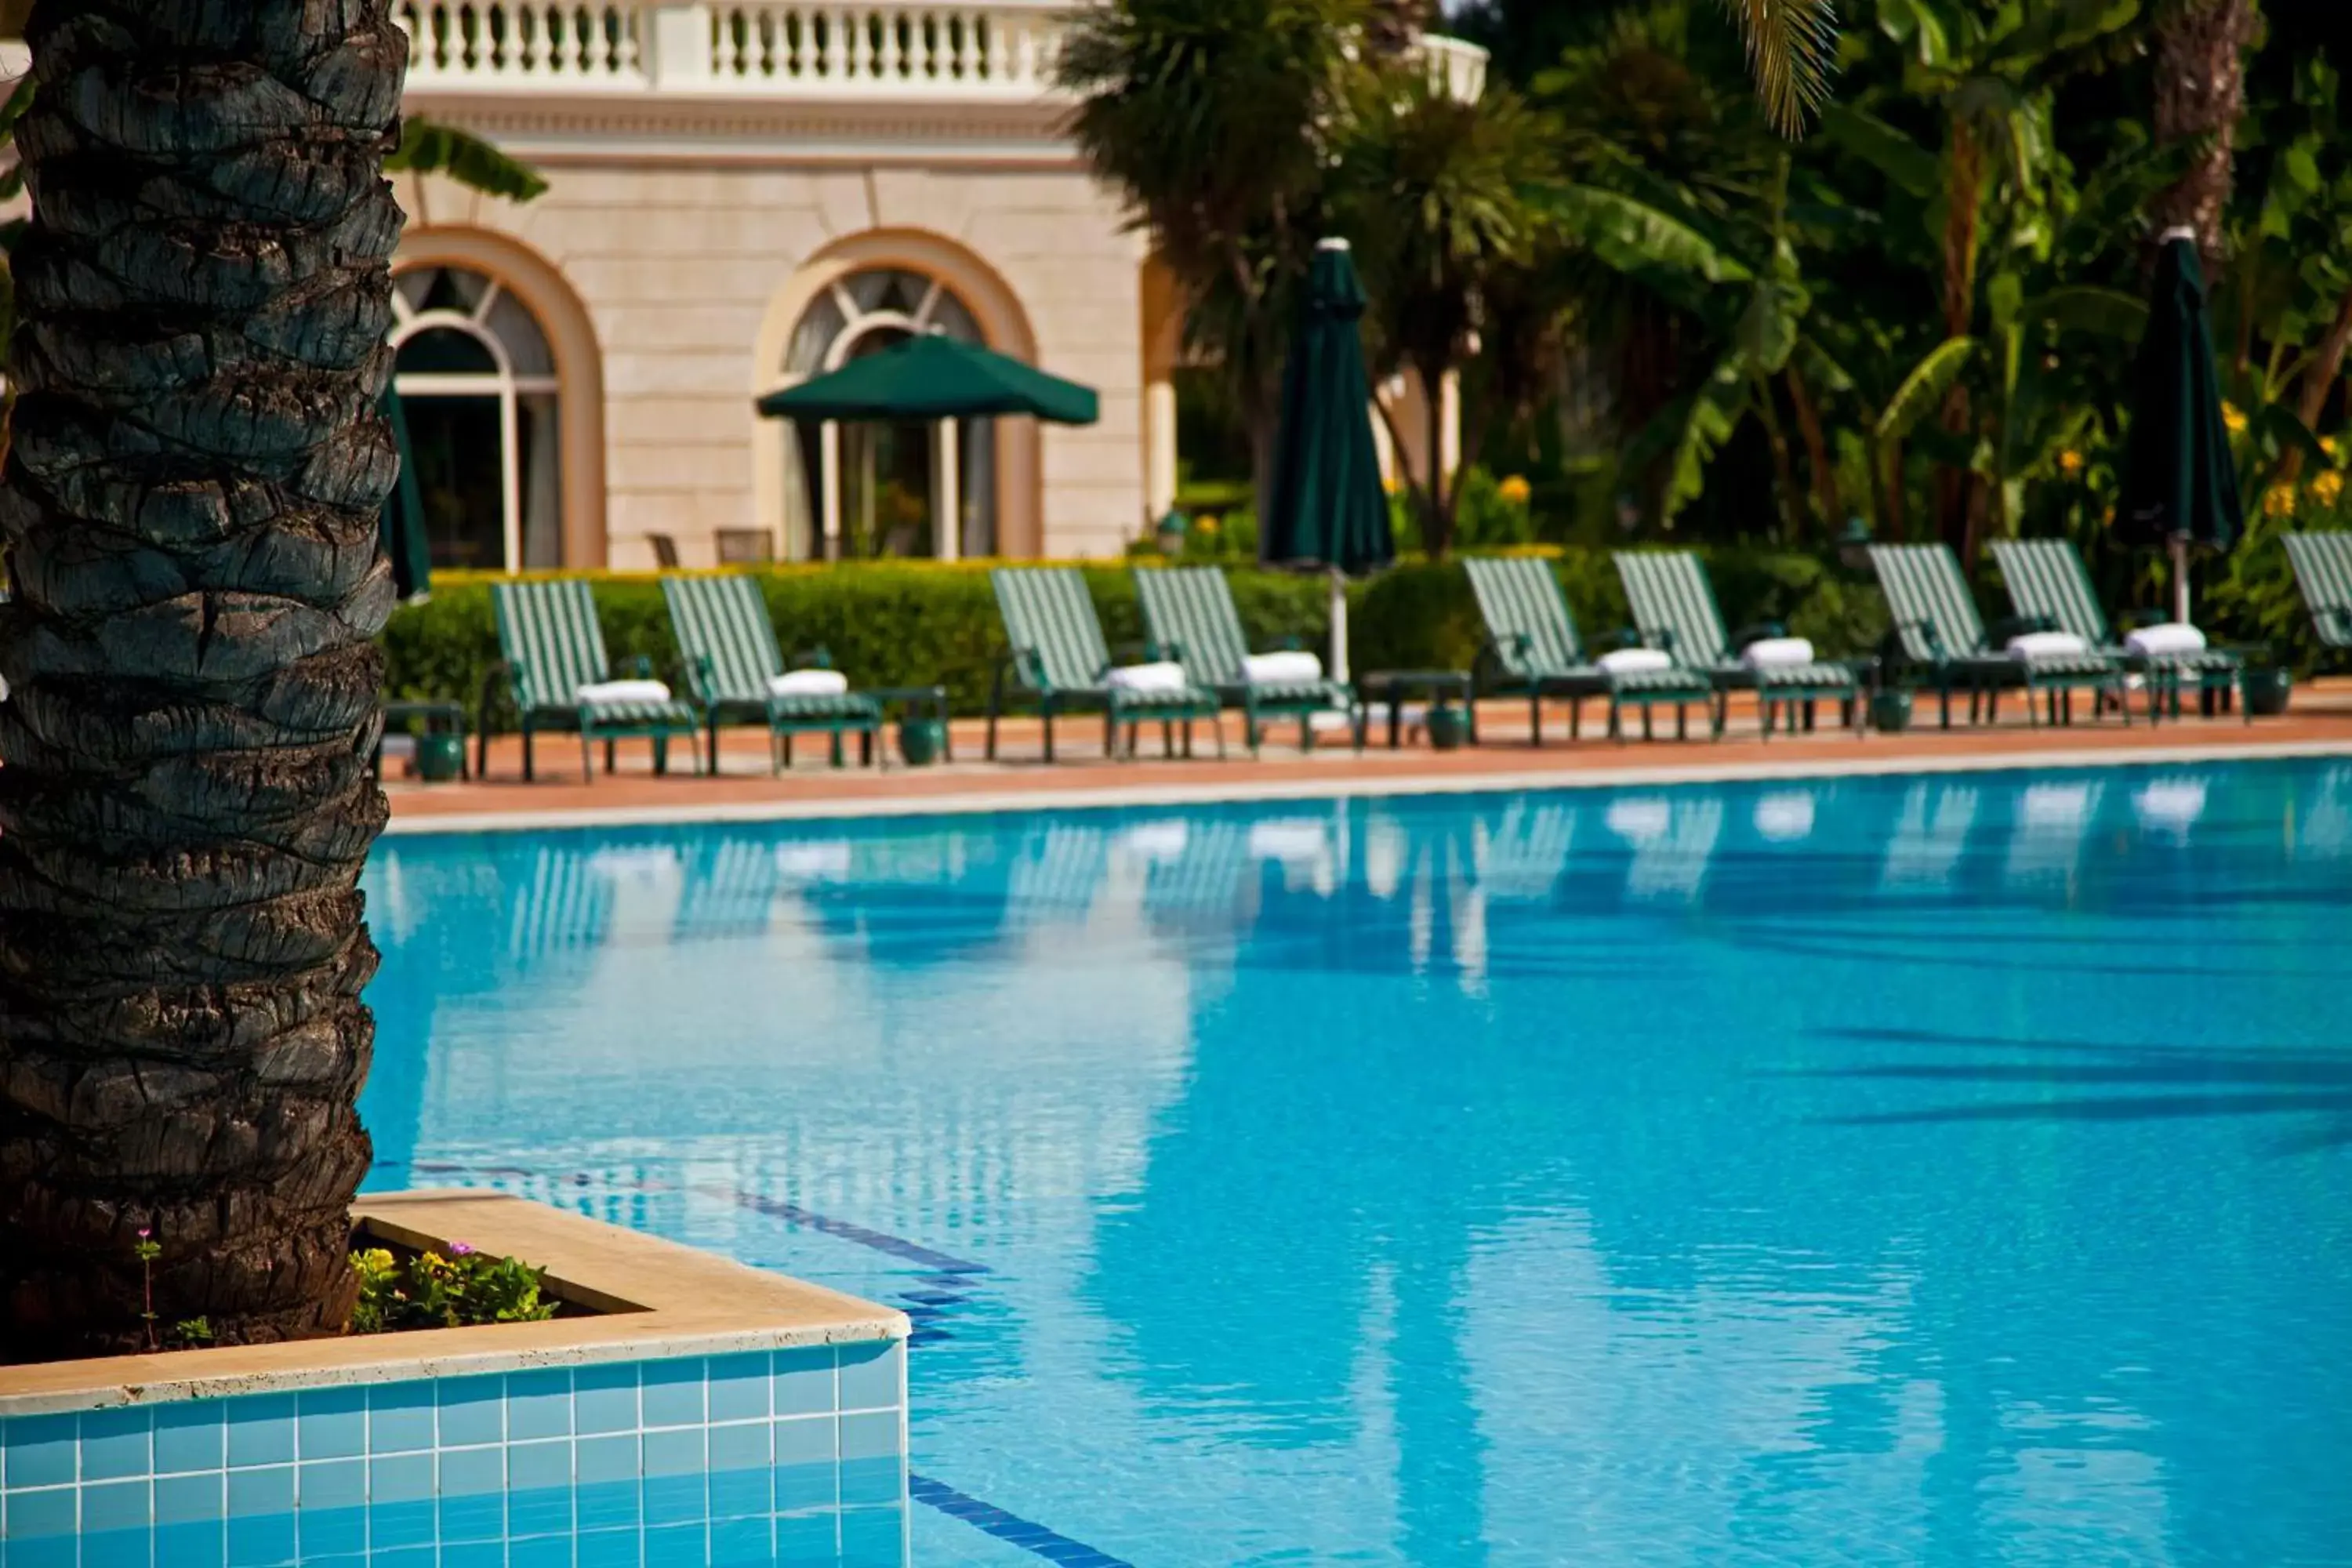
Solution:
M576 299L602 381L604 564L652 567L647 534L670 534L687 564L710 564L717 529L779 529L781 484L762 484L760 468L762 442L781 442L783 425L750 407L781 371L781 355L762 362L762 327L802 268L870 249L858 244L866 235L906 237L901 249L948 259L938 270L976 273L946 282L983 327L990 313L971 301L974 284L1009 299L1028 336L1004 343L993 331L995 348L1030 357L1033 343L1042 369L1101 395L1089 428L1030 433L1016 428L1028 421L1000 421L1000 548L1115 555L1143 527L1143 244L1084 172L550 158L539 167L548 190L529 205L402 179L409 235L395 266L447 254L452 230L463 230L473 263L499 270L499 247L513 247L517 268L536 259ZM567 367L567 397L574 383ZM567 510L576 489L567 473ZM569 559L574 538L567 527L567 564L595 564Z

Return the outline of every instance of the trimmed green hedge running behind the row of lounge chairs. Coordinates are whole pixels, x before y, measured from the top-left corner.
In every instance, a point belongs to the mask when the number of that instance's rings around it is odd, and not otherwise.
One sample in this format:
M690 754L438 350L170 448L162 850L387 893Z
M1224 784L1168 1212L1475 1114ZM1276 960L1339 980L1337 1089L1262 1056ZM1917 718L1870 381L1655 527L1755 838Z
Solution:
M1604 550L1543 550L1592 649L1625 625L1625 595ZM1877 590L1844 581L1811 555L1703 550L1724 618L1738 628L1783 621L1825 656L1867 654L1886 630ZM1143 616L1127 562L1082 562L1112 651L1143 639ZM586 574L595 585L604 646L647 656L684 689L677 644L656 574ZM1327 635L1327 588L1317 576L1228 569L1232 599L1254 644ZM492 574L433 576L433 597L400 607L383 628L386 686L397 698L459 698L473 705L499 658L489 609ZM995 661L1004 654L988 564L844 562L757 574L786 656L823 646L861 686L946 684L957 712L983 712ZM1477 602L1458 564L1402 562L1348 592L1350 663L1357 670L1470 668L1479 646Z

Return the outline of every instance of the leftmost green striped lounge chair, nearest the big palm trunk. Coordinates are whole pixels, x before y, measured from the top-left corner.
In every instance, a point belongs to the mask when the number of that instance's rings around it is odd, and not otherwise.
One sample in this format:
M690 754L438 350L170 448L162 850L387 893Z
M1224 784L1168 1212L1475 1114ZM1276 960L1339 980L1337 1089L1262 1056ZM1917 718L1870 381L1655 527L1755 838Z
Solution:
M612 677L604 656L604 632L595 621L595 597L588 583L492 583L492 609L499 616L499 663L482 677L482 726L475 748L475 776L489 766L489 712L499 686L515 703L522 724L522 778L534 776L532 736L541 729L576 731L581 766L595 776L590 745L604 743L604 771L612 771L612 743L623 736L654 741L654 771L670 771L670 736L696 731L694 708L680 701L583 703L581 686ZM630 675L652 677L649 658L630 661Z

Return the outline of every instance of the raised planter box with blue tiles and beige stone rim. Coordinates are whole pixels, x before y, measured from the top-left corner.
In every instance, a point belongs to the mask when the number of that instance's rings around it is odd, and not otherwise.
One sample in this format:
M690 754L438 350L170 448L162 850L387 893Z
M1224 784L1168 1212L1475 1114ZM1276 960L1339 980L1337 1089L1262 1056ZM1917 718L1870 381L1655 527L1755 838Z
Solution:
M358 1220L590 1314L0 1368L0 1561L906 1559L903 1314L503 1194Z

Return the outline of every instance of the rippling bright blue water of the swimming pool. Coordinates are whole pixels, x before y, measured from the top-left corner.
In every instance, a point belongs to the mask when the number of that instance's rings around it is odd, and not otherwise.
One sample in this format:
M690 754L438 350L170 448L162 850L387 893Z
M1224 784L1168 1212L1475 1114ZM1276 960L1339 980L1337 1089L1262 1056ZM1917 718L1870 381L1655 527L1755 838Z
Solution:
M400 837L376 1187L908 1307L913 1563L2352 1563L2352 766Z

